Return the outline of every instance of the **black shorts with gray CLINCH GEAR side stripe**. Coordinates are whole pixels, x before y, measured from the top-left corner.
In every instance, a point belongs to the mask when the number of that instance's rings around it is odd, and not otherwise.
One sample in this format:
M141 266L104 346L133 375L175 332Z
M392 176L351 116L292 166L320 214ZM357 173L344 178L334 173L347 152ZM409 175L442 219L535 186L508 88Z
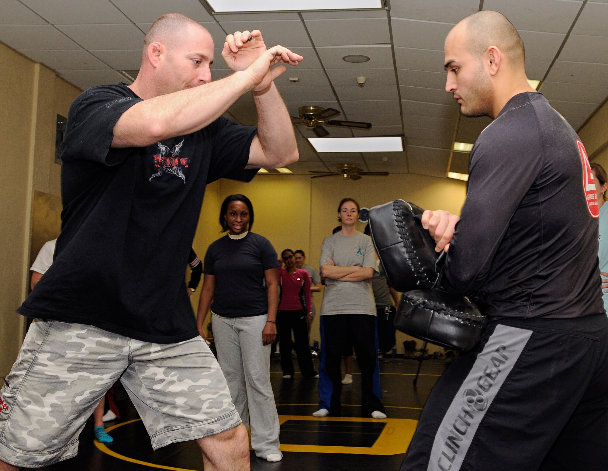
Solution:
M608 469L608 318L492 321L431 391L401 471Z

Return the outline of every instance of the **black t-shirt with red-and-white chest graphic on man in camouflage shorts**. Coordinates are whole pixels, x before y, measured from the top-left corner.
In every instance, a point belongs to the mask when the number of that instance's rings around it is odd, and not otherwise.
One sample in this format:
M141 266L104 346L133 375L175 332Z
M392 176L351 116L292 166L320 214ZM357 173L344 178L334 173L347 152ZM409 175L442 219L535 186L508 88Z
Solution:
M72 103L55 260L18 312L173 343L198 335L184 267L205 186L254 177L244 167L256 131L221 117L148 147L110 148L117 120L139 101L121 83Z

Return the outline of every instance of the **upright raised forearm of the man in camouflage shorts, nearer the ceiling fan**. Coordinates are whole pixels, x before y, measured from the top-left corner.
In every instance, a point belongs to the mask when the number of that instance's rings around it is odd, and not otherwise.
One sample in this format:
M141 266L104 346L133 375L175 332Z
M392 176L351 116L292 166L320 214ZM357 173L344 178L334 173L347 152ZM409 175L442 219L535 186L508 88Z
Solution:
M283 167L297 160L294 126L287 106L272 82L268 91L254 92L258 112L258 139L269 166Z

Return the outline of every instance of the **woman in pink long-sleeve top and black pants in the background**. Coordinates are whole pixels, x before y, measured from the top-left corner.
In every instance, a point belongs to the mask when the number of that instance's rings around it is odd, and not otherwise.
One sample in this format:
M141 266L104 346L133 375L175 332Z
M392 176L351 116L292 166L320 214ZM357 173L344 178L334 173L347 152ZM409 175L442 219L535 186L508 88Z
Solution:
M281 301L278 305L277 330L283 378L291 379L295 374L294 362L291 360L292 348L295 349L302 375L306 378L318 378L308 340L308 324L313 319L310 277L306 270L295 266L294 251L291 249L283 250L281 258L286 268L278 269ZM292 330L294 342L291 341Z

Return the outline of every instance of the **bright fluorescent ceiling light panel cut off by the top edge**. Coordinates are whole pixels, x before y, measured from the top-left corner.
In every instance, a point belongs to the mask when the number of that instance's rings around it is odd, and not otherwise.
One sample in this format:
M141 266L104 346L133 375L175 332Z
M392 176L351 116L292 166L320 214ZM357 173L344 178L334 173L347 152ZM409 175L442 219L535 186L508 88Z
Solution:
M382 8L381 0L207 0L216 13L356 10Z

